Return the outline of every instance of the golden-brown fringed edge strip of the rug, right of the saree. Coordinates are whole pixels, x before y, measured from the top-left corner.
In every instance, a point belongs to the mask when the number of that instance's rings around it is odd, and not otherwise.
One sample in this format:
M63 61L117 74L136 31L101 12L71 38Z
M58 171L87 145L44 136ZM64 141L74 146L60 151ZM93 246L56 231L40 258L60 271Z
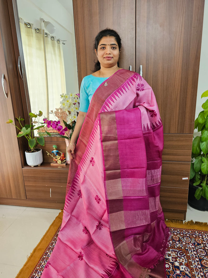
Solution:
M185 221L183 220L171 220L166 219L165 223L168 227L173 228L181 228L181 229L194 229L194 230L200 230L200 231L208 231L208 224L207 222L199 222L199 221Z

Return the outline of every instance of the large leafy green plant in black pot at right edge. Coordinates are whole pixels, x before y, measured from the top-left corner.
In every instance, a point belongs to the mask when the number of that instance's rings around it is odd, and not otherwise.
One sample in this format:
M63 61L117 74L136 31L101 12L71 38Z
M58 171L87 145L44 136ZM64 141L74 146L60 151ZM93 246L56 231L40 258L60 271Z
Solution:
M208 96L208 90L201 98ZM208 211L208 99L194 122L194 129L201 131L192 142L192 160L188 204L194 209Z

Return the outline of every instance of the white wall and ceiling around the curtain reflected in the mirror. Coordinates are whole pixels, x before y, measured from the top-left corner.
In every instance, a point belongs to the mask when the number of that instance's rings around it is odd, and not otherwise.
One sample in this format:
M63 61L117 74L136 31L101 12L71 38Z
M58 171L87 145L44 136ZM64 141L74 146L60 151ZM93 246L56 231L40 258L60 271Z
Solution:
M19 16L24 21L34 24L36 28L41 28L40 17L50 21L56 28L52 35L66 40L65 45L63 44L66 89L68 94L78 93L73 11L69 13L57 0L17 0L17 7Z

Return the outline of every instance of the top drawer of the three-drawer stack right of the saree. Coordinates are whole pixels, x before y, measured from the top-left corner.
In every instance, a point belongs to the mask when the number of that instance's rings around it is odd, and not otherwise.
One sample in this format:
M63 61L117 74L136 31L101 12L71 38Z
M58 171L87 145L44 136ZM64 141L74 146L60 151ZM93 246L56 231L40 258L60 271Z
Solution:
M193 134L164 134L163 161L191 161Z

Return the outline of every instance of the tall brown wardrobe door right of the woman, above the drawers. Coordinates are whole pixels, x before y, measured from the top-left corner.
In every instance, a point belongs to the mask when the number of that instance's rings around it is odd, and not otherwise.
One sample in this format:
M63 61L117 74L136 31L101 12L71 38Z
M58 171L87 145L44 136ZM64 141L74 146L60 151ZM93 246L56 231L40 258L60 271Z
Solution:
M136 71L153 88L164 133L193 133L204 0L136 0Z

